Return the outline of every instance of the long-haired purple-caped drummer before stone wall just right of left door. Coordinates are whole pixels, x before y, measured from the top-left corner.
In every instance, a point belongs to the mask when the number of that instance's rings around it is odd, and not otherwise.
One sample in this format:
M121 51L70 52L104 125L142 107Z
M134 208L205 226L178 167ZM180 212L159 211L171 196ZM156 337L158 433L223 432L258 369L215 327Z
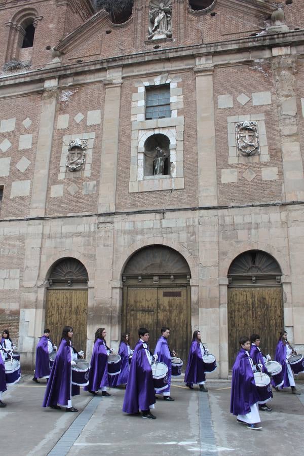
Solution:
M95 332L94 348L90 362L89 384L84 387L84 390L94 395L97 394L98 390L101 390L102 396L111 397L111 394L106 391L106 387L109 386L107 358L110 349L106 346L105 336L106 330L104 328L98 328Z

